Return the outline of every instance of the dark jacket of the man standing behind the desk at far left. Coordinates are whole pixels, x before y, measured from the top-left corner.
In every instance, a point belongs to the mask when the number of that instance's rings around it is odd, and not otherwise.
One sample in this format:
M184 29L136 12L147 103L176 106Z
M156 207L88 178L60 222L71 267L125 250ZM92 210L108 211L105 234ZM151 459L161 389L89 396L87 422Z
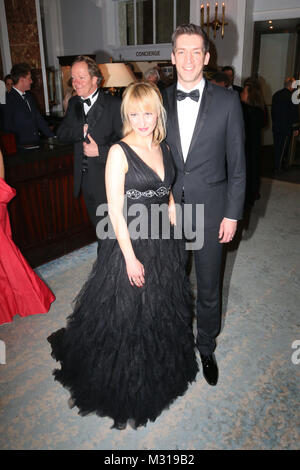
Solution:
M16 90L12 88L9 93L6 93L6 105L4 107L4 128L6 132L13 132L17 144L20 145L39 143L39 132L46 137L53 137L53 132L41 116L33 96L28 91L26 92L26 98L31 110Z

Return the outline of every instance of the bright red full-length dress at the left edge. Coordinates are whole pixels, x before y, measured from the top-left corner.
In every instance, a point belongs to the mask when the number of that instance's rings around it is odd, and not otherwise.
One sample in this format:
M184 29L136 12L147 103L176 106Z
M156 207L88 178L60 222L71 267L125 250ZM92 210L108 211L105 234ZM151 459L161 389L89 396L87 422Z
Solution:
M17 314L47 313L55 300L12 241L7 204L15 194L0 178L0 324L11 322Z

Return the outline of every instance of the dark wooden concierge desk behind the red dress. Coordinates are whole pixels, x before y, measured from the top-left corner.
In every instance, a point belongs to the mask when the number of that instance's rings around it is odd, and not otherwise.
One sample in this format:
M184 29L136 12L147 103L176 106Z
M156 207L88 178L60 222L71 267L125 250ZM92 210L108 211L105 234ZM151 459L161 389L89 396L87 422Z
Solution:
M13 240L32 267L96 240L82 195L73 197L73 147L4 156L5 179L16 189L9 204Z

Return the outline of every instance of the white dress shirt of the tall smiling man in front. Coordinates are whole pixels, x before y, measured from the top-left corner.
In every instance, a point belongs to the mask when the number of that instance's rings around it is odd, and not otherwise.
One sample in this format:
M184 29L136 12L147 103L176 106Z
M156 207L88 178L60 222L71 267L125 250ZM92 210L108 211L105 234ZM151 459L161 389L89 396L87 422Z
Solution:
M177 101L179 133L184 161L186 161L189 152L198 112L200 109L204 86L204 78L202 78L198 85L192 90L186 90L182 85L180 85L179 82L177 83L177 90L184 91L185 93L190 93L193 90L199 90L200 96L198 101L194 101L191 98L185 98L182 101Z

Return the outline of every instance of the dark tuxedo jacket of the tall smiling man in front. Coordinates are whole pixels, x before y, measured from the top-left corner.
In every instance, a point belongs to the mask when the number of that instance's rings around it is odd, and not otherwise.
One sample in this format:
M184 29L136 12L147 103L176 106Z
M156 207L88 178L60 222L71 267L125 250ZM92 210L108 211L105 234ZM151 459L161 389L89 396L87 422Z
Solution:
M205 228L219 226L224 217L240 219L246 174L244 121L239 96L206 80L184 162L176 87L176 83L171 85L163 94L167 111L167 142L177 168L173 186L175 202L181 202L184 188L185 203L204 204Z

